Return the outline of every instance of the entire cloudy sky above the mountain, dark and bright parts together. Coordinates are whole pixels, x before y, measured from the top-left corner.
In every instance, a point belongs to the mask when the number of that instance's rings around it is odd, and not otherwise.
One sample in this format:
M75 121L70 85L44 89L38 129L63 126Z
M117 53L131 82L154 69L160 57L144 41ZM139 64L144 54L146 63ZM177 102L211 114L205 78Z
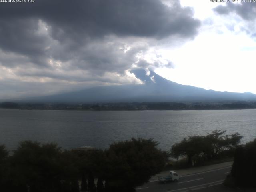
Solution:
M256 3L230 1L0 2L0 99L141 84L136 67L256 94Z

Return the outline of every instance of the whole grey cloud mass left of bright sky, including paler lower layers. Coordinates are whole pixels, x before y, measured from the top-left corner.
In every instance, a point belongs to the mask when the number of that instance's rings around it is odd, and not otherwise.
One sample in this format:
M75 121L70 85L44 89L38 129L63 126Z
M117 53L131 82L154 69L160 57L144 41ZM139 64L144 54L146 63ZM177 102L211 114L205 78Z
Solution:
M165 38L196 36L200 21L192 8L170 2L172 6L160 0L1 3L0 67L11 69L4 69L10 74L2 81L12 77L18 83L27 76L27 83L31 77L114 82L106 73L126 80L124 71L133 64L172 67L169 61L148 63L138 57Z

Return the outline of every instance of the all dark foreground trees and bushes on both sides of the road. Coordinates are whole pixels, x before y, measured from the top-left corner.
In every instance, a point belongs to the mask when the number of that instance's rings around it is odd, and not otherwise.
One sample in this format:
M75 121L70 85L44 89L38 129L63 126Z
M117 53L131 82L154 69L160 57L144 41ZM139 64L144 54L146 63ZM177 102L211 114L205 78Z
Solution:
M0 145L0 191L134 192L151 176L173 168L168 164L170 156L182 159L177 162L186 160L186 167L235 156L226 183L255 186L256 139L240 146L241 139L238 133L214 130L206 136L184 138L172 146L170 154L159 150L152 139L142 138L115 142L107 150L61 150L57 144L23 141L12 155Z

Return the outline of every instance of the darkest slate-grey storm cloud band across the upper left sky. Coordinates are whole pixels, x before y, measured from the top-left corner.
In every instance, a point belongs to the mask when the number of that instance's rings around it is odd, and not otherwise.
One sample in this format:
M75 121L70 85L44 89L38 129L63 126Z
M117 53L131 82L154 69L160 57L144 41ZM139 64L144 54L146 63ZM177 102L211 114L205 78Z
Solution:
M178 1L167 7L159 0L41 0L32 4L1 4L0 47L30 56L36 64L50 56L50 39L38 34L38 20L46 23L50 37L69 51L106 35L164 38L194 37L200 25L191 8ZM70 50L68 50L70 49ZM53 50L51 50L53 51ZM55 50L54 50L55 52ZM58 51L56 51L58 52ZM63 52L62 52L63 53ZM41 58L40 58L41 57ZM66 58L68 59L68 58Z

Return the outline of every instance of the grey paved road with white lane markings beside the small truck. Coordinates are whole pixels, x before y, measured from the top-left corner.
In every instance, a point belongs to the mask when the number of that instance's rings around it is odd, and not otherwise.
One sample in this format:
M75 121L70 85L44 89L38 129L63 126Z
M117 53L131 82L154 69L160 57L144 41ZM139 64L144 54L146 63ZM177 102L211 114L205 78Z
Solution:
M194 174L181 176L176 183L159 183L157 180L151 180L143 186L137 187L136 192L189 192L189 191L208 191L208 188L214 188L223 183L226 176L230 173L231 166L216 168ZM179 174L179 172L177 171ZM205 190L203 190L205 189Z

